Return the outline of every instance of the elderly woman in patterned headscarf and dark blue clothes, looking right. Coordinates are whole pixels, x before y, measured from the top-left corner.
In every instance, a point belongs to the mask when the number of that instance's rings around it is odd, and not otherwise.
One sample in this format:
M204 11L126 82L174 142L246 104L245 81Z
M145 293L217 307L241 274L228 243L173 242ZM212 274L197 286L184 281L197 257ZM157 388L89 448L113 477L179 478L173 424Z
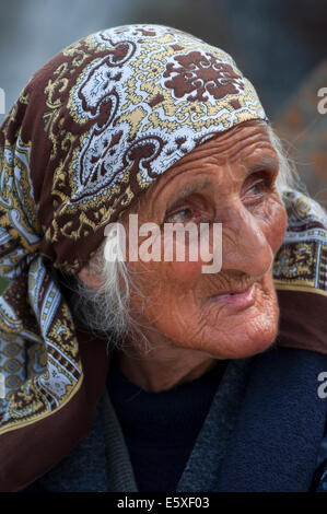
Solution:
M326 217L233 59L93 34L0 143L0 489L324 490ZM219 269L177 258L205 225Z

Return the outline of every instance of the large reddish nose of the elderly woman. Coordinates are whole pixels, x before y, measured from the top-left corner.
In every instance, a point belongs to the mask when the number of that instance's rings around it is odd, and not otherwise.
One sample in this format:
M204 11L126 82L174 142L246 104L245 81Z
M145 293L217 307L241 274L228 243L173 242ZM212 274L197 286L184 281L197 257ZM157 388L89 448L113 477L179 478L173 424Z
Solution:
M264 227L243 205L227 209L222 219L222 269L264 276L273 261Z

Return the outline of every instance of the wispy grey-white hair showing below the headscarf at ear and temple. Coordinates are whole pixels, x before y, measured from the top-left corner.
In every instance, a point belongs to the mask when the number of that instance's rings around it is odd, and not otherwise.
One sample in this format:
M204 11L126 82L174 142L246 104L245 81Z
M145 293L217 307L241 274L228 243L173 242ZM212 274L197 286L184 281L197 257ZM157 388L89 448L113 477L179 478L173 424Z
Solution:
M265 124L264 121L259 121ZM280 139L270 125L269 138L279 160L279 173L277 177L277 190L283 200L284 191L289 188L302 188L295 166L289 159ZM119 247L119 237L105 238L95 257L90 262L90 268L103 282L101 290L95 291L75 279L75 294L73 296L73 312L78 322L89 330L105 336L112 348L122 348L128 338L136 338L138 343L143 342L147 350L151 349L147 341L142 327L135 320L129 299L130 290L135 288L133 280L126 262L116 258L112 261L105 258L106 252L115 252Z

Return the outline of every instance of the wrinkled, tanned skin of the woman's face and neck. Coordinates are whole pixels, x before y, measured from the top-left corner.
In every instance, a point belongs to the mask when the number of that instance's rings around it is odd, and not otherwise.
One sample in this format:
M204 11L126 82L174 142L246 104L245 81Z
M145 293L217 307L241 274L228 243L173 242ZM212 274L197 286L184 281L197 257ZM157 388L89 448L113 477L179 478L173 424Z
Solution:
M202 273L200 260L129 262L137 285L132 312L153 350L133 344L119 361L140 387L167 389L200 376L217 359L253 355L273 342L279 308L272 262L287 223L277 174L278 156L265 126L244 124L183 157L125 212L125 222L138 212L139 224L222 223L218 273ZM190 185L198 187L184 197ZM87 268L80 278L100 285ZM227 292L252 285L249 304L229 301Z

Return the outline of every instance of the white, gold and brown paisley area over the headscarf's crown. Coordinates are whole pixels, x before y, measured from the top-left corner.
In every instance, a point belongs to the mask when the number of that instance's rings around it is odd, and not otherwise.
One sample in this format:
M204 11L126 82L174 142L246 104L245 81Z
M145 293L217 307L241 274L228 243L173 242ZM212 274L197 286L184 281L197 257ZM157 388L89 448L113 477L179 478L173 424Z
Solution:
M265 119L231 57L178 31L105 31L62 55L45 87L51 195L59 199L45 231L50 244L89 236L113 221L203 137ZM70 125L82 128L66 131L63 152L56 136L59 124L66 127L62 106ZM74 265L63 266L70 271Z

